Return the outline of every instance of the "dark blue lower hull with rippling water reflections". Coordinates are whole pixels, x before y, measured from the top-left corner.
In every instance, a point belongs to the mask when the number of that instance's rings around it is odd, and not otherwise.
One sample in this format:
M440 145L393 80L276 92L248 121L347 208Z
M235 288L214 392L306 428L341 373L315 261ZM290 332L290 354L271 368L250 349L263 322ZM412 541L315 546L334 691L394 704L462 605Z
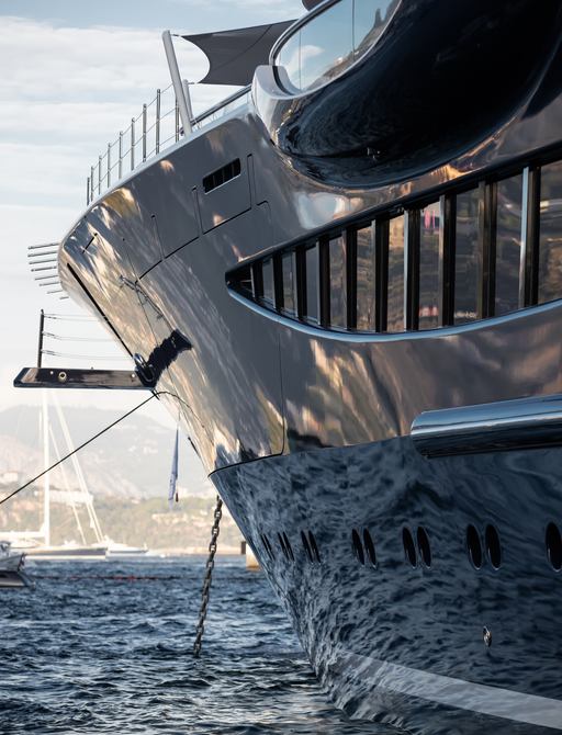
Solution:
M426 460L395 439L214 478L340 706L416 733L540 733L562 728L561 579L544 547L548 522L562 516L561 460L560 449ZM486 551L480 569L471 564L469 523L482 536L497 528L497 569ZM415 567L405 558L403 529L415 538L418 527L429 567L418 549ZM375 567L367 550L364 564L352 553L352 530L364 529ZM303 549L310 530L319 564Z

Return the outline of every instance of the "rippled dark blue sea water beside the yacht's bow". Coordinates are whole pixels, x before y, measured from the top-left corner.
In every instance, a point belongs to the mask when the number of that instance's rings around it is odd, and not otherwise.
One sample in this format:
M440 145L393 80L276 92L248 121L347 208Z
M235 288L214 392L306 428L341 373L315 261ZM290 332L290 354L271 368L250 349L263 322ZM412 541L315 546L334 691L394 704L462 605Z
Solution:
M331 708L261 573L215 568L192 657L201 557L29 563L0 590L0 733L383 732Z

